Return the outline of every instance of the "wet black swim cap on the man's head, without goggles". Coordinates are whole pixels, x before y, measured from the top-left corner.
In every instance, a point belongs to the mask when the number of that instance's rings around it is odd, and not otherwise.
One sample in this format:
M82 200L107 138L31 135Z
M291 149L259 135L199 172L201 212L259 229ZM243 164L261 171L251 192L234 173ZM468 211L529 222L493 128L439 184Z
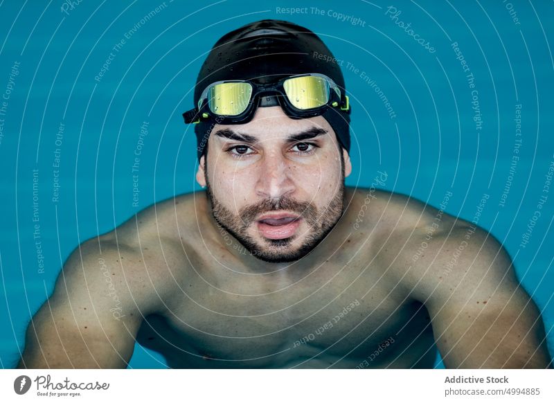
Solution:
M287 21L265 19L224 35L213 46L198 74L195 105L208 85L223 80L272 82L287 75L320 73L346 93L337 60L311 30ZM350 151L350 110L329 107L323 114L339 143ZM204 154L215 119L195 124L198 159Z

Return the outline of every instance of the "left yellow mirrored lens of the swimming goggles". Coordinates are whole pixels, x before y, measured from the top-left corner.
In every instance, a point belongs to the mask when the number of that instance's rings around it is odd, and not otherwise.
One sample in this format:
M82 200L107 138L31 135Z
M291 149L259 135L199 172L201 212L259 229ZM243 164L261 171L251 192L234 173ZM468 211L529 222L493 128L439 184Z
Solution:
M242 114L252 96L252 86L247 82L222 82L208 90L208 107L217 115Z

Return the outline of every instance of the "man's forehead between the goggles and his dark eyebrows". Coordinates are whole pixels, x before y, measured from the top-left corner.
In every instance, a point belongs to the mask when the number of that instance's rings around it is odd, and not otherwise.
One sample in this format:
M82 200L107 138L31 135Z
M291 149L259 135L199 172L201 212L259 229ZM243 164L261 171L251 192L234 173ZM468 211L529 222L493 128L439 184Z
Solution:
M260 140L270 138L287 138L292 134L298 134L313 127L321 128L328 134L325 137L336 141L336 136L332 127L323 116L314 116L313 118L292 119L289 118L281 107L260 107L249 123L244 125L215 125L213 133L221 129L231 129L240 134L249 134ZM210 140L219 138L210 136Z

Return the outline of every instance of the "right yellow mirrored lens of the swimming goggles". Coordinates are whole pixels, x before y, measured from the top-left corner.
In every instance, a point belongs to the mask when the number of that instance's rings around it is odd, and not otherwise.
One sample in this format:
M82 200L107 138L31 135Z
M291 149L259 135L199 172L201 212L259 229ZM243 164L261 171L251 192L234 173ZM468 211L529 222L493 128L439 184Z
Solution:
M303 75L285 80L287 98L298 109L314 109L329 102L329 82L314 75Z

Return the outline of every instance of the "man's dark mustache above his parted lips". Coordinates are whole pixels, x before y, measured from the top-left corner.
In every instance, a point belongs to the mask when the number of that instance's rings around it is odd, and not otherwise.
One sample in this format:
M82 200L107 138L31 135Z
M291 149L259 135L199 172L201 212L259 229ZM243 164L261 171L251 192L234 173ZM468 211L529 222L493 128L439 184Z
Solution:
M314 204L298 202L298 200L290 197L280 197L279 199L264 199L256 204L241 208L239 211L241 226L243 229L247 229L258 215L279 210L294 212L303 217L310 225L317 222L317 208Z

